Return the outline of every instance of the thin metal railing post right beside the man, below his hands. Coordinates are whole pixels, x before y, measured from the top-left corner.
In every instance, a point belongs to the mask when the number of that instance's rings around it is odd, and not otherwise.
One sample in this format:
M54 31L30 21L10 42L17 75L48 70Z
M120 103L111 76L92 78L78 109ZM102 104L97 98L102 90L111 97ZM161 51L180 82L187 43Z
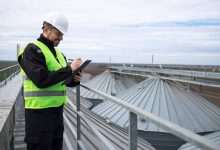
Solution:
M77 150L80 150L79 141L80 141L80 85L76 87L76 111L77 111Z

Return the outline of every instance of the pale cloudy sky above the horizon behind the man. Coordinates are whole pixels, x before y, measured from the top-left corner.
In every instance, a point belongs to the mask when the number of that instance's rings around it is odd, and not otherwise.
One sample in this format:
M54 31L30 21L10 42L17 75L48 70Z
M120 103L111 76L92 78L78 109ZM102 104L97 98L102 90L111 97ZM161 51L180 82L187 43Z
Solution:
M0 59L16 59L41 33L43 18L63 13L59 45L93 62L220 65L219 0L0 0Z

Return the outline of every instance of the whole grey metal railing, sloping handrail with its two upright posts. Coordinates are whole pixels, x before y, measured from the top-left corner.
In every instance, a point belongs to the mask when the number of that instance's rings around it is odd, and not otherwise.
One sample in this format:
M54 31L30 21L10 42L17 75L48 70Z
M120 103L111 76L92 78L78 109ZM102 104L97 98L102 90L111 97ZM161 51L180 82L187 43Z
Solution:
M184 139L185 141L188 141L190 143L195 144L196 146L206 149L206 150L218 150L219 145L215 144L214 142L206 139L205 137L202 137L198 134L193 133L192 131L182 128L174 123L171 123L169 121L166 121L150 112L143 111L139 109L138 107L135 107L127 102L122 101L119 98L113 97L111 95L108 95L106 93L103 93L98 90L94 90L92 88L89 88L83 84L80 85L81 87L94 92L104 98L106 100L111 101L113 103L116 103L120 105L123 108L126 108L129 110L129 150L136 150L137 149L137 116L141 116L143 118L146 118L153 123L159 125L161 128L166 129L170 133L176 135L177 137ZM77 113L77 148L80 149L80 142L81 142L81 131L80 131L80 118L81 118L81 111L80 111L80 86L77 86L76 88L76 113Z

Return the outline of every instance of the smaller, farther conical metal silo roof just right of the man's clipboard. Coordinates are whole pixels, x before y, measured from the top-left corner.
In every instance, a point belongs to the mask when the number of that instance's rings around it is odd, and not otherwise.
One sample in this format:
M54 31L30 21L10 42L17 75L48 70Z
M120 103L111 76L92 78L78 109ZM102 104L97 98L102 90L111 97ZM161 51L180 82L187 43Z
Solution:
M85 83L93 89L103 91L110 95L117 95L119 92L124 91L126 87L122 84L121 80L116 80L114 74L108 70L95 76L93 79ZM90 99L103 99L101 96L81 88L80 94L82 97Z

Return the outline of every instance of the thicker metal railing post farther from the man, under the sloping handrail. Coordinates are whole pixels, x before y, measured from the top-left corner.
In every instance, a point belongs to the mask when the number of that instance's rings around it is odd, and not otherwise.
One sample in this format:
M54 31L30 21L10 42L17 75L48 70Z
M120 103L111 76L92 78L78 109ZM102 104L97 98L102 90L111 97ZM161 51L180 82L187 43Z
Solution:
M129 112L129 150L137 150L137 115Z

